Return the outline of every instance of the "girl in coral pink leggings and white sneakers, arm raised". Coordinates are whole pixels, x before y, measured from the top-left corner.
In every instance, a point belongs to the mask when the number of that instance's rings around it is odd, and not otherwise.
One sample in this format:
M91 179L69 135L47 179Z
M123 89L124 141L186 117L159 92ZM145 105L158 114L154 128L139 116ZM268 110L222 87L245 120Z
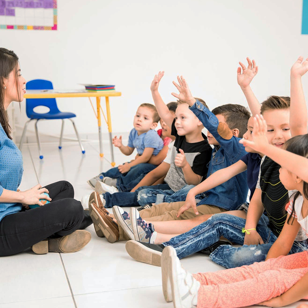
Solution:
M308 299L308 252L287 255L300 227L308 233L308 134L286 141L283 150L267 143L266 131L265 120L257 115L253 140L242 143L280 164L281 182L287 189L297 190L286 206L288 217L281 234L265 262L214 273L188 273L175 249L166 247L162 253L163 292L174 307L282 307Z

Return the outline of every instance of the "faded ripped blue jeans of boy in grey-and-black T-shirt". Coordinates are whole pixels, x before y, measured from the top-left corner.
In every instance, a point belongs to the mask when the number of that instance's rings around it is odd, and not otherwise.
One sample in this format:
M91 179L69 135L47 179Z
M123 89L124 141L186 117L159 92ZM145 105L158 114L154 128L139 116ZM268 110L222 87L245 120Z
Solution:
M194 185L185 185L183 188L174 192L170 187L169 189L162 190L154 188L145 188L139 191L138 193L138 203L141 206L144 206L148 203L160 204L163 202L176 202L176 201L185 201L187 193L191 188L195 187ZM204 193L201 193L196 196L196 199L202 200L205 197Z

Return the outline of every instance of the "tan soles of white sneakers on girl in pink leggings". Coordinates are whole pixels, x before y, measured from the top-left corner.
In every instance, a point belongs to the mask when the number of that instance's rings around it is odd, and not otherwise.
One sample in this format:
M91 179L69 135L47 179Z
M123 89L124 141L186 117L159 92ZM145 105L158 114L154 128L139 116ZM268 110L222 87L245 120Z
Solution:
M173 306L177 308L182 306L177 282L172 275L172 273L176 273L176 262L172 258L174 256L176 257L176 254L171 246L164 248L161 256L161 278L165 301L172 302L173 300Z

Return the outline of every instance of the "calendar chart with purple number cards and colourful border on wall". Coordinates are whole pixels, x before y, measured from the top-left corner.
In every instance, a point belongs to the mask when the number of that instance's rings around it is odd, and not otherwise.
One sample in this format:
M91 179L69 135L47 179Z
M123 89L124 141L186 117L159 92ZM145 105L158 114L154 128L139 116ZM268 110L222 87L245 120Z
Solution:
M57 0L0 0L0 29L57 30Z

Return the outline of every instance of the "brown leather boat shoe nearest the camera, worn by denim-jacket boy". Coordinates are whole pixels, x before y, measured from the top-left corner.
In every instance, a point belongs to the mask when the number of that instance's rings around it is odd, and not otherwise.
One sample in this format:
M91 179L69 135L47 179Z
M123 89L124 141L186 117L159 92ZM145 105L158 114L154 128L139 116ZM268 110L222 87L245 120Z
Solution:
M89 206L90 216L92 218L95 232L99 237L105 236L107 241L114 243L119 240L120 233L118 225L106 213L98 208L94 203Z

